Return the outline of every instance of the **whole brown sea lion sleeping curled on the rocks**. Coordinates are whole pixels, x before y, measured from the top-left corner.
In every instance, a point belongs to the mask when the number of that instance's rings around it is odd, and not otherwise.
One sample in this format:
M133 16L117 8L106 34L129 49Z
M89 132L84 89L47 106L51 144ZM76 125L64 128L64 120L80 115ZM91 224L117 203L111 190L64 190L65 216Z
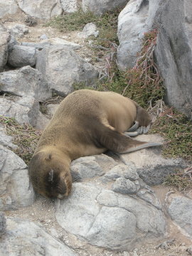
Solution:
M48 198L68 196L70 163L110 149L127 153L159 146L130 138L146 133L150 115L115 92L78 90L63 100L44 130L28 166L33 188Z

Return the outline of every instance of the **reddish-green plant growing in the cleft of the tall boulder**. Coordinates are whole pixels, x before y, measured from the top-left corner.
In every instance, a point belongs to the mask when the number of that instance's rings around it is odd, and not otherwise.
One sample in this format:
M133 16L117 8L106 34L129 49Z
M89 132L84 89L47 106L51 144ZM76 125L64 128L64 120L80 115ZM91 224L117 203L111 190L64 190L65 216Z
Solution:
M134 68L127 70L127 87L124 96L132 98L142 107L155 105L164 96L163 80L154 63L157 30L145 33L142 50Z

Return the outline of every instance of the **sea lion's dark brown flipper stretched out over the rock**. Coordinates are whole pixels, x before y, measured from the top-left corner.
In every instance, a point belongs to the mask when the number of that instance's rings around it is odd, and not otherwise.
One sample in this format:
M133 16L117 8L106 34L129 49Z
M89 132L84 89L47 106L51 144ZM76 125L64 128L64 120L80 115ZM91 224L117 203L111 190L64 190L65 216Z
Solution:
M162 144L156 142L140 142L126 135L117 132L114 129L110 129L104 125L102 129L102 135L100 138L100 144L106 149L118 153L129 153L144 149L149 146L161 146Z

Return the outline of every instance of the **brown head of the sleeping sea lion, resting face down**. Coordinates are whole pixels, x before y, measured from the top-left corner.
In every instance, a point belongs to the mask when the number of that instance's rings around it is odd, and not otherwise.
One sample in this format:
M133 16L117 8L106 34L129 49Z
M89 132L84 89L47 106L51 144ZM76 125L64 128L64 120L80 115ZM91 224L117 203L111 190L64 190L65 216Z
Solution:
M34 154L28 166L28 174L35 191L46 198L62 199L70 194L70 163L57 151L39 151Z

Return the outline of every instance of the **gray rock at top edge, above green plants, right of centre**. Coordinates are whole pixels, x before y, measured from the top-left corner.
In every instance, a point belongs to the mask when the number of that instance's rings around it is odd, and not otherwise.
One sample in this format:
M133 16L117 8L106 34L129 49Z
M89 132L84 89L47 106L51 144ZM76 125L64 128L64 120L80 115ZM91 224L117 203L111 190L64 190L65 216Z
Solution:
M124 6L129 0L82 0L82 10L92 11L95 14L104 14L118 6Z

